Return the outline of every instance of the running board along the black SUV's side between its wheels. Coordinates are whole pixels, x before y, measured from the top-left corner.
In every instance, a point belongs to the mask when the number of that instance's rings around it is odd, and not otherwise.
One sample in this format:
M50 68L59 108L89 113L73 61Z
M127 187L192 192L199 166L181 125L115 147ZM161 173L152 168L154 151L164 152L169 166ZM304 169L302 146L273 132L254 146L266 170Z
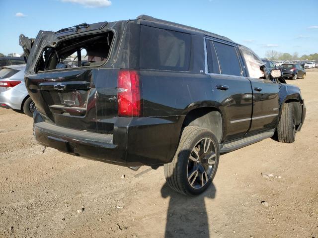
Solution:
M233 142L225 143L223 145L221 144L220 145L220 147L221 147L220 153L231 152L231 151L237 150L239 148L245 147L247 145L254 144L254 143L261 141L263 139L272 137L274 135L274 133L275 133L275 129L272 129L272 130L269 130L269 131L266 131L266 132L263 132L263 133L260 133L257 135L248 136L248 137L245 137L243 139L239 139L239 140L236 140Z

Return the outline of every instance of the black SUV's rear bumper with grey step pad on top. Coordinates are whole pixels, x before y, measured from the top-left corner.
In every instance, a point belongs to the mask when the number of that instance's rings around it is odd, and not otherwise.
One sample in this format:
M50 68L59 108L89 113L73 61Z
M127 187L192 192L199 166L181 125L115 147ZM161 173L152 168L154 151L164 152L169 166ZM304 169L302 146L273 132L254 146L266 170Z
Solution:
M64 128L35 112L39 144L62 152L121 166L161 165L172 160L182 126L180 117L117 118L113 134Z

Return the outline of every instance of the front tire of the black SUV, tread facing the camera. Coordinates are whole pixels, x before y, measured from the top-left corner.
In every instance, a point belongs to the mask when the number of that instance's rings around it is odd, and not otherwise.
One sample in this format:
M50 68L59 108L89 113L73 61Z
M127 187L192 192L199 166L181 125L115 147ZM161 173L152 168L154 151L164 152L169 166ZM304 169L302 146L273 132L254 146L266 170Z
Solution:
M295 112L291 103L283 105L282 115L277 126L277 138L279 142L293 143L296 138Z

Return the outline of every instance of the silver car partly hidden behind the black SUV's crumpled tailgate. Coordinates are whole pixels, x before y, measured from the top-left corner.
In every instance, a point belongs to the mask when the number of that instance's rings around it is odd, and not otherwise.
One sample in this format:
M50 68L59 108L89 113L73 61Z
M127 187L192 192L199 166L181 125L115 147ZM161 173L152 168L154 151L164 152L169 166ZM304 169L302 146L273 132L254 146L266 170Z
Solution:
M0 70L0 107L22 110L33 117L35 104L24 84L25 64L2 67Z

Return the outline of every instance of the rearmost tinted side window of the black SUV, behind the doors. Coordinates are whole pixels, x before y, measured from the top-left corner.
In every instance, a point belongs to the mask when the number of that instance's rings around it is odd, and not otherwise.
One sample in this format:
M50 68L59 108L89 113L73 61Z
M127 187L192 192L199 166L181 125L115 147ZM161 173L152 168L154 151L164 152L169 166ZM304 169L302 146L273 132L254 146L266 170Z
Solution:
M190 52L189 34L141 26L141 68L187 71Z

